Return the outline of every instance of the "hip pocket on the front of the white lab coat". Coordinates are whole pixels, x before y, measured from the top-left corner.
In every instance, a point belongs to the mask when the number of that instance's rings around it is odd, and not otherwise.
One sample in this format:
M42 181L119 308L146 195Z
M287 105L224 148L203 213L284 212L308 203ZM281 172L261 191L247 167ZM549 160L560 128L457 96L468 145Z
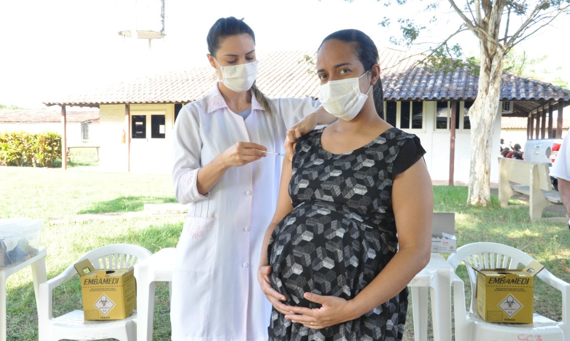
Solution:
M210 272L217 234L217 218L187 217L176 246L178 270Z

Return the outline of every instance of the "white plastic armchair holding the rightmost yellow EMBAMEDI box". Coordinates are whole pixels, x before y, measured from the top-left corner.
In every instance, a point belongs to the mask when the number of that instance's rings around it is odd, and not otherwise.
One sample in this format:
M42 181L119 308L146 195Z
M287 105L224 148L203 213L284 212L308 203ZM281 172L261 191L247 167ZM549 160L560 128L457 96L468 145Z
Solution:
M514 247L500 243L479 242L463 245L457 253L451 254L447 262L455 270L461 262L484 268L522 269L534 259ZM465 286L461 278L454 275L453 306L455 318L455 340L457 341L570 341L570 284L555 277L547 269L540 271L536 277L548 283L562 293L562 320L557 322L545 316L534 314L533 323L491 323L485 322L477 314L477 274L467 266L471 281L471 304L469 310L465 306Z

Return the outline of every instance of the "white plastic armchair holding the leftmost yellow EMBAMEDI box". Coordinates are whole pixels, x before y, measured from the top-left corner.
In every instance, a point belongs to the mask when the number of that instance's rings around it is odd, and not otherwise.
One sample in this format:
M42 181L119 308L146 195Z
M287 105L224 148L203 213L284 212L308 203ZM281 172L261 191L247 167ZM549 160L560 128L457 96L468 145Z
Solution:
M151 254L144 247L131 244L101 246L77 259L58 276L41 283L38 306L39 340L115 338L121 341L135 341L137 339L136 312L133 312L126 319L108 321L84 320L82 310L71 311L54 318L52 315L52 293L56 287L78 275L74 264L83 259L89 259L95 269L121 269L131 267L139 259L145 259Z

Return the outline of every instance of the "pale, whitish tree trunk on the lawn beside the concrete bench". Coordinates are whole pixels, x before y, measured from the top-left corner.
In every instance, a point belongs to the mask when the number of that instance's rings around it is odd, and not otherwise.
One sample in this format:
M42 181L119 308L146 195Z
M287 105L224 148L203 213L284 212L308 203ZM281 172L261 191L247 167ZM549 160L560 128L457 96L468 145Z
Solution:
M491 142L495 117L499 108L503 72L503 52L488 49L481 42L479 90L469 110L471 121L471 167L467 204L487 206L491 199ZM492 51L492 53L490 52Z

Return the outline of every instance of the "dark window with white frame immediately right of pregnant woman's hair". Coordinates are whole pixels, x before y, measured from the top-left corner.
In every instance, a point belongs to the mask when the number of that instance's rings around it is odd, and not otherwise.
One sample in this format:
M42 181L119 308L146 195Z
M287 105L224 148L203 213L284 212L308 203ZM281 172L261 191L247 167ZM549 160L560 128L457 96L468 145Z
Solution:
M424 128L424 102L384 102L386 122L400 129Z

